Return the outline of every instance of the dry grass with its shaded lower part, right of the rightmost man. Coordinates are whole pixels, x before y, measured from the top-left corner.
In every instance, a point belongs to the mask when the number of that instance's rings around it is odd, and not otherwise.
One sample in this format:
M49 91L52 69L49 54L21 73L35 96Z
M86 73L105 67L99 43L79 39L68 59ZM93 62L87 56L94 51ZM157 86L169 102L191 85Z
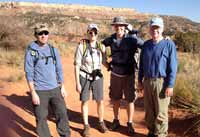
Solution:
M200 54L179 53L179 67L172 104L194 114L184 135L200 136Z

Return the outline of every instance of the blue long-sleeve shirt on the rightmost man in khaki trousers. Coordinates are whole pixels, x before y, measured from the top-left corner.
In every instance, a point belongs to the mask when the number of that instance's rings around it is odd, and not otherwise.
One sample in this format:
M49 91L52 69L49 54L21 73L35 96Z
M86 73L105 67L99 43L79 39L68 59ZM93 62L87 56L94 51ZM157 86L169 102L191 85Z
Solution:
M144 43L140 55L138 81L142 83L144 77L164 78L166 87L173 87L177 72L176 46L171 40L161 40Z

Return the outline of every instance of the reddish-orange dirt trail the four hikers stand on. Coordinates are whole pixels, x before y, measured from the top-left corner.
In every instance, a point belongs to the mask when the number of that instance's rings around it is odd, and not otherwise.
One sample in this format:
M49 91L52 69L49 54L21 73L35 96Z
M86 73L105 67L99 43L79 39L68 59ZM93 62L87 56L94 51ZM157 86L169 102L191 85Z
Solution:
M65 87L68 93L66 103L68 107L68 116L70 119L70 127L72 137L80 137L83 129L82 118L80 113L79 95L75 91L75 80L73 70L72 56L62 59ZM104 95L105 95L105 121L109 126L113 119L112 106L108 97L109 73L104 71ZM7 82L10 75L14 73L23 73L23 69L15 70L11 67L0 66L0 136L1 137L36 137L35 133L35 118L31 105L31 99L28 94L28 88L23 78L18 83ZM134 114L134 127L137 134L134 137L145 137L147 129L144 123L144 110L142 100L136 102L136 110ZM91 134L95 137L126 137L126 110L124 102L120 113L120 123L122 128L118 132L109 131L106 134L101 134L96 129L98 121L96 104L94 101L89 102L89 122L91 125ZM56 132L54 118L49 118L49 128L53 137L58 137ZM176 130L172 130L176 131ZM174 136L174 133L170 133Z

